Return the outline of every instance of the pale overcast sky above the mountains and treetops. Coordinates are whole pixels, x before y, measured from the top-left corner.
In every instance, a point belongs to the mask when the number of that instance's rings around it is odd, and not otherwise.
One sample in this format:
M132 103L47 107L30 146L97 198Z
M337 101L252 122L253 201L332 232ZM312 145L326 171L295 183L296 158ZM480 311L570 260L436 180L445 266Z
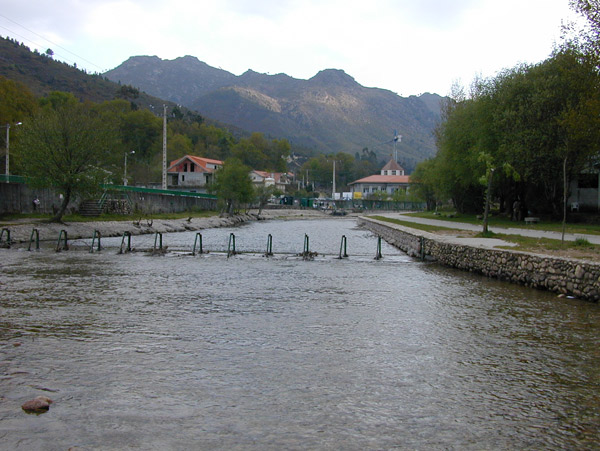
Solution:
M236 75L343 69L402 96L447 95L544 60L568 0L2 0L0 35L90 72L192 55Z

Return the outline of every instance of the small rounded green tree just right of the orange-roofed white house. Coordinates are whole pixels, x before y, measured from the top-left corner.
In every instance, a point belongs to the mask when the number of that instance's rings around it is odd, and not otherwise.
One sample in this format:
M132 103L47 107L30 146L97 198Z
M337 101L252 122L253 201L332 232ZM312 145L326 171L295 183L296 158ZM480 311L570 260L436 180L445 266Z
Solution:
M211 191L216 193L224 211L232 215L242 204L254 199L250 168L237 158L225 160L223 167L215 174Z

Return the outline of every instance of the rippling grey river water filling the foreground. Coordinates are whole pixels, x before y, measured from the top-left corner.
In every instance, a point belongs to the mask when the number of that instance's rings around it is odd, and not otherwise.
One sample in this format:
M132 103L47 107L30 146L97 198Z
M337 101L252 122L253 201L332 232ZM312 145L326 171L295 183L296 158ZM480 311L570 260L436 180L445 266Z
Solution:
M600 449L597 304L374 260L351 219L194 238L0 249L0 448Z

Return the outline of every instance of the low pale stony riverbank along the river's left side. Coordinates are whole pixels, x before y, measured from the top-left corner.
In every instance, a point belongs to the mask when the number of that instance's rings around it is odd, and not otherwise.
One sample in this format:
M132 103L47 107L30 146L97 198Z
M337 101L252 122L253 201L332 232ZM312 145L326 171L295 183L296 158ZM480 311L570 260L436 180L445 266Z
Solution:
M331 217L319 210L250 210L248 213L235 216L212 216L208 218L183 218L183 219L152 219L141 218L135 221L89 221L71 223L49 223L43 220L19 220L2 226L10 231L11 241L14 243L28 242L33 229L37 229L40 241L57 240L61 230L65 230L69 239L92 238L98 231L102 237L122 236L124 233L131 235L144 235L152 233L186 232L217 227L232 227L248 221L267 219L315 219ZM6 236L5 236L6 237ZM3 237L3 239L5 238Z

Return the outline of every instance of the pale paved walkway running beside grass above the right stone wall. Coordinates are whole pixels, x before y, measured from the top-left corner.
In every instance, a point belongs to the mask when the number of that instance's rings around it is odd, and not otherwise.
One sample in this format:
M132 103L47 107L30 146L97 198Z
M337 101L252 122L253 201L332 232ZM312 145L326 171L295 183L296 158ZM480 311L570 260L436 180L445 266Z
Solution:
M467 224L465 222L444 221L441 219L417 218L414 216L408 216L408 215L406 215L406 213L383 213L383 214L381 214L381 216L386 216L389 218L396 218L396 219L400 219L400 220L406 221L406 222L415 222L418 224L428 224L428 225L433 225L433 226L446 227L449 229L471 230L471 231L475 231L475 232L481 232L481 230L482 230L482 226L480 226L480 225ZM554 239L554 240L561 239L560 232L550 232L550 231L546 231L546 230L535 230L535 229L520 228L520 227L511 227L511 228L488 227L488 229L494 233L502 233L505 235L521 235L521 236L528 236L528 237L533 237L533 238L550 238L550 239ZM575 241L577 238L585 238L590 243L600 244L600 235L589 235L589 234L582 234L582 233L576 233L576 234L565 233L566 241ZM488 239L464 238L464 240L473 241L473 244L475 244L475 243L485 243L485 241Z

